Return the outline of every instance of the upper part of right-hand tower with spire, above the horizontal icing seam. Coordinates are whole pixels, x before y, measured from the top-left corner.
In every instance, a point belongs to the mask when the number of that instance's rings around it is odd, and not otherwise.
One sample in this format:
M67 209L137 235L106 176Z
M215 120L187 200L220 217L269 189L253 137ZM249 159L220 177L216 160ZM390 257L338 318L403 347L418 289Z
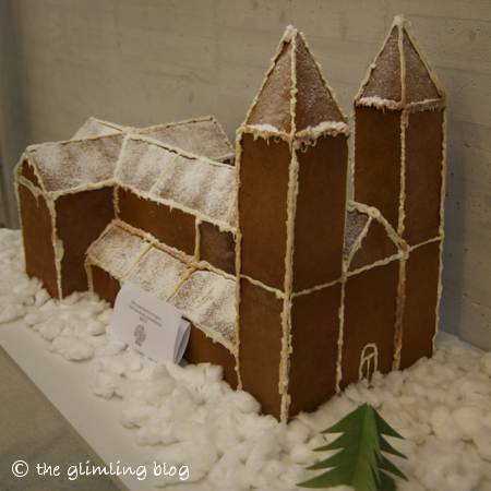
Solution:
M355 199L416 244L439 233L445 93L397 15L355 99Z

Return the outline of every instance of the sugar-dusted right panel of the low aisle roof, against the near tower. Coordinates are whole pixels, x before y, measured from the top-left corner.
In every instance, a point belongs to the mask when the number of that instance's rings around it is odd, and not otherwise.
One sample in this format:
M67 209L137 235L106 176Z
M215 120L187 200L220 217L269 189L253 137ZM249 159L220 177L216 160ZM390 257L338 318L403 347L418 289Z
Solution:
M209 272L194 272L169 300L203 327L236 343L236 283Z

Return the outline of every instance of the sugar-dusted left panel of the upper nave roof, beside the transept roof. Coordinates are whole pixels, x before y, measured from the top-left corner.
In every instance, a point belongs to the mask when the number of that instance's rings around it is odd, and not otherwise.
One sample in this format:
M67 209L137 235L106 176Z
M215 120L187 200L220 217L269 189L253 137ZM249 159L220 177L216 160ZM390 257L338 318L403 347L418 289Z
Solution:
M148 192L176 154L141 140L129 140L117 179L123 185Z

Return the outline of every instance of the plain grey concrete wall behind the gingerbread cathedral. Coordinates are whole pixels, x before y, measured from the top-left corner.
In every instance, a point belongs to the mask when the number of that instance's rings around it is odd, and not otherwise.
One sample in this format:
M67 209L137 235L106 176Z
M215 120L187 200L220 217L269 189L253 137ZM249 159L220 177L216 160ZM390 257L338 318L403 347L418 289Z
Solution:
M25 146L69 139L89 116L215 115L233 140L288 24L349 113L398 13L448 97L441 327L490 350L489 0L1 0L0 223L19 226L11 176Z

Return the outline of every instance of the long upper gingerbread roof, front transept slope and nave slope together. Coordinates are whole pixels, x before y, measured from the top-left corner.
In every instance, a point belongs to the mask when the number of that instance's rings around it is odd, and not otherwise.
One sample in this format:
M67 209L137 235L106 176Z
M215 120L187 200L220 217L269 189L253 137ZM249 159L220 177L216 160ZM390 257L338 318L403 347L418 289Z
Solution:
M32 184L50 200L120 185L221 228L235 226L233 167L143 135L120 133L35 145L26 149L23 161L32 169ZM22 172L20 165L17 179Z

